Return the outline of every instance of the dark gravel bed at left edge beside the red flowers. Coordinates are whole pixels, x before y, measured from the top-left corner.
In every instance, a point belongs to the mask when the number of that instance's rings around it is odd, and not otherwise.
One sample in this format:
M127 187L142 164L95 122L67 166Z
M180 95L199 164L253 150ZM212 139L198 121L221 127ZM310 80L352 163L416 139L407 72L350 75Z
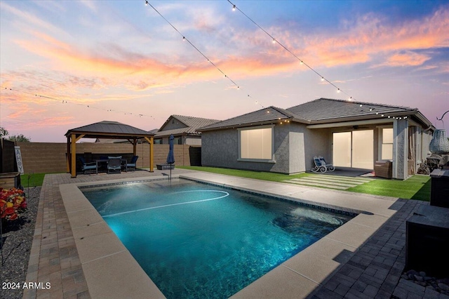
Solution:
M20 214L17 220L7 222L6 227L2 227L0 298L22 298L22 284L27 277L40 193L41 187L29 187L29 191L25 188L27 211ZM20 287L12 289L17 283L20 283Z

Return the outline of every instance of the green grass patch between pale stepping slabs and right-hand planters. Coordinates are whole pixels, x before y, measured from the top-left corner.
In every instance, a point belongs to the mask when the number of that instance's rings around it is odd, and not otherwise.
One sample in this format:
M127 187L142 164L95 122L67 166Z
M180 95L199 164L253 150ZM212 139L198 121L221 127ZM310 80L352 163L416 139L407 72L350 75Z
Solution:
M351 187L347 191L429 201L430 177L413 175L407 180L371 180L363 185Z

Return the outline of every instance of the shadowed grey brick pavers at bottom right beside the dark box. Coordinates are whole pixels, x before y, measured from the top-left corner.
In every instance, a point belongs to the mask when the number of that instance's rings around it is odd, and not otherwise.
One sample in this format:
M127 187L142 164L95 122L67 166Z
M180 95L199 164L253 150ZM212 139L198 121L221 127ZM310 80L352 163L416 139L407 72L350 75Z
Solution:
M428 298L448 295L401 279L406 265L406 220L424 201L401 199L405 204L352 258L324 281L309 298Z

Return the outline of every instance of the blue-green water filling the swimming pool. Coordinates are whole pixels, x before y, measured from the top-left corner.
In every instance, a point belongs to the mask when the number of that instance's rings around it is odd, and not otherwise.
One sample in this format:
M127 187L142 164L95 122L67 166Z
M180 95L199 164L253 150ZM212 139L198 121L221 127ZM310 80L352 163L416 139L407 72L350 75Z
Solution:
M82 191L167 298L228 298L352 218L189 180Z

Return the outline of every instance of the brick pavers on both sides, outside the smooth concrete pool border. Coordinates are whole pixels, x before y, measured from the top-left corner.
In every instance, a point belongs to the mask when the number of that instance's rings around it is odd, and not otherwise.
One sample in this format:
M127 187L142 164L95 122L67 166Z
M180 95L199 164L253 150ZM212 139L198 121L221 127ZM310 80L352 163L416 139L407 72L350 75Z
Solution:
M76 249L72 228L62 202L60 184L96 182L162 175L166 171L135 171L114 175L46 175L41 189L39 211L27 281L51 282L51 288L25 290L24 298L91 298ZM173 175L192 173L175 169ZM208 174L211 175L211 174ZM248 180L248 179L246 179ZM260 181L257 181L257 183ZM263 183L263 182L262 182ZM274 183L279 188L293 184ZM307 188L298 186L297 188ZM342 192L336 194L342 195ZM349 192L345 192L348 194ZM375 199L375 197L373 197ZM391 200L391 203L394 203ZM406 219L423 201L398 199L398 211L354 253L342 257L342 263L326 279L316 284L309 298L446 298L449 296L400 281L405 263ZM254 294L257 298L257 294ZM258 297L260 298L260 297ZM296 297L297 298L297 297Z

